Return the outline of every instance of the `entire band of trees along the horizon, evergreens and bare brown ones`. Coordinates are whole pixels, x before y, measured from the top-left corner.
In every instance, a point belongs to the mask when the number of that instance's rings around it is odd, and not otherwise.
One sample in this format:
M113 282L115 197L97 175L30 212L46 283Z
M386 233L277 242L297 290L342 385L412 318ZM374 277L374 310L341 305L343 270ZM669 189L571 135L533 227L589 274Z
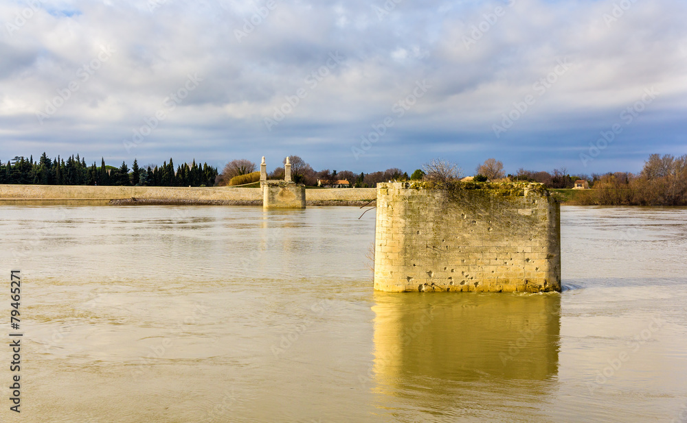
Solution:
M322 169L315 171L300 156L289 156L291 177L299 184L316 186L317 181L335 184L347 180L351 186L374 188L379 182L404 180L458 180L463 177L462 169L447 160L434 159L416 169L411 176L396 167L385 171L354 173L344 170ZM286 159L284 159L284 162ZM117 185L117 186L223 186L235 176L258 171L258 165L246 159L232 160L222 173L216 167L183 163L174 167L170 158L163 165L139 166L133 160L131 169L125 161L120 167L105 164L100 166L76 156L49 158L45 152L37 161L33 156L16 156L7 162L0 162L0 184L43 184L43 185ZM268 173L269 179L283 179L284 167L276 167ZM489 158L475 169L475 182L484 181L526 181L539 182L551 189L570 189L576 180L589 182L591 190L576 197L579 204L598 205L687 205L687 154L675 157L670 154L652 154L644 162L640 173L616 172L591 176L571 176L566 169L531 171L519 169L515 175L504 172L504 165L495 158Z

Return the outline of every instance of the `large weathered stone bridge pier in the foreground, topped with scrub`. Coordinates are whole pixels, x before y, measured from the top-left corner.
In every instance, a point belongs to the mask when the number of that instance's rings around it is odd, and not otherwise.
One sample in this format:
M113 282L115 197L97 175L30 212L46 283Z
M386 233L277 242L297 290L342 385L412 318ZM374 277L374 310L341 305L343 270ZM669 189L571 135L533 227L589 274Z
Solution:
M378 184L374 289L561 291L560 204L541 184Z

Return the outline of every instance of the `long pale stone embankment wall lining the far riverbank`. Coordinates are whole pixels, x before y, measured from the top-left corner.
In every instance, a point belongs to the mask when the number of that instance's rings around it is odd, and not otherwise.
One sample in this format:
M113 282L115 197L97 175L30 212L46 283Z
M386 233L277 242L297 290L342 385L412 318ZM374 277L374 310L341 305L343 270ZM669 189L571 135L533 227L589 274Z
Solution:
M306 190L309 206L363 206L376 199L374 188ZM260 188L232 186L83 186L0 184L5 205L219 205L262 206ZM370 203L374 205L374 201Z

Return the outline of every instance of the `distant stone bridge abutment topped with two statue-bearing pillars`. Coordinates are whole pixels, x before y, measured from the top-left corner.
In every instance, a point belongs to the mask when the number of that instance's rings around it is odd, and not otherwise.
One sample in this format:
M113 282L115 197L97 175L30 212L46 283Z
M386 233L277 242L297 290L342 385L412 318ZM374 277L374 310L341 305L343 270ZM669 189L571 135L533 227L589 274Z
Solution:
M291 180L291 163L286 158L284 180L267 180L267 165L260 162L262 208L305 208L305 186Z

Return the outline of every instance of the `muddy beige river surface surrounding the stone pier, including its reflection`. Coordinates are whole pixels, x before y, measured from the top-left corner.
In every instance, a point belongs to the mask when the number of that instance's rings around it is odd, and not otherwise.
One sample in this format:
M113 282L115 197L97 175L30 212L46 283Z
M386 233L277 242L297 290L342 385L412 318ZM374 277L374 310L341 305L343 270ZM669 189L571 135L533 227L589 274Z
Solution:
M2 206L0 421L687 422L687 209L563 206L548 294L374 292L360 214Z

